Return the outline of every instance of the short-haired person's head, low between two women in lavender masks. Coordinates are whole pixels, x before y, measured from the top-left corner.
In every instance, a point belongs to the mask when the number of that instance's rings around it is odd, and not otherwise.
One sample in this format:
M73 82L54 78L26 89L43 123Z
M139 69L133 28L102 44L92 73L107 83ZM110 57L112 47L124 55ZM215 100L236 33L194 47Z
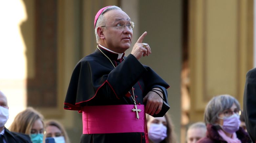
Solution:
M199 139L205 137L206 126L203 122L196 122L189 126L187 130L187 143L196 143Z

